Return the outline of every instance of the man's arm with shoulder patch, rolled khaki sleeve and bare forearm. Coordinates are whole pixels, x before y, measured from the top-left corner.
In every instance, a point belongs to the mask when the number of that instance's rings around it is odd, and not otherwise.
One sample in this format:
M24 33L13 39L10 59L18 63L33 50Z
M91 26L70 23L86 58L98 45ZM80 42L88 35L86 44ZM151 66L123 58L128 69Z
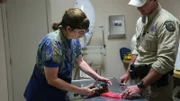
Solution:
M175 29L170 30L168 29L169 26L175 27ZM172 21L168 24L165 22L163 28L160 30L158 34L157 61L152 64L149 73L142 79L144 86L154 83L163 74L168 73L174 68L179 44L180 31L178 26L179 25Z

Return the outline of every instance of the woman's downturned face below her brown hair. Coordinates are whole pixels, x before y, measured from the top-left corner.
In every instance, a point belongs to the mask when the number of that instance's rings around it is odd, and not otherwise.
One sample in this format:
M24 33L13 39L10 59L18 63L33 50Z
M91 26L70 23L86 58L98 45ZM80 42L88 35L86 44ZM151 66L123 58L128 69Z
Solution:
M83 37L85 35L85 33L87 33L88 30L87 29L70 29L67 31L68 33L68 36L67 38L68 39L79 39L81 37Z

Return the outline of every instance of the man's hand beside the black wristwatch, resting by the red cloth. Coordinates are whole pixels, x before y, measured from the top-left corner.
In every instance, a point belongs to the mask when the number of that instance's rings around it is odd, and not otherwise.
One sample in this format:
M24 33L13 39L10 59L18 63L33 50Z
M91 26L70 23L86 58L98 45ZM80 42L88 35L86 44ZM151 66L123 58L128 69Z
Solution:
M137 85L128 86L124 92L121 93L122 98L131 97L137 93L140 93L143 89L138 88Z

